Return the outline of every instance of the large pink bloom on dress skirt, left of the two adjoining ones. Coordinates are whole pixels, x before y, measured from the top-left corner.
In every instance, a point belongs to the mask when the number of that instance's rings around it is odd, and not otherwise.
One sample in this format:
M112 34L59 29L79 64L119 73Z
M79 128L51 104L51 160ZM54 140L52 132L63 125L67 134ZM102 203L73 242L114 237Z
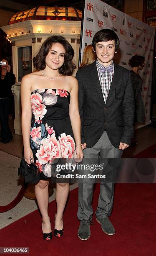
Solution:
M47 138L43 138L40 142L40 149L37 150L36 157L41 164L50 164L53 161L53 158L58 158L59 151L58 151L58 144L53 133L51 136L48 134Z

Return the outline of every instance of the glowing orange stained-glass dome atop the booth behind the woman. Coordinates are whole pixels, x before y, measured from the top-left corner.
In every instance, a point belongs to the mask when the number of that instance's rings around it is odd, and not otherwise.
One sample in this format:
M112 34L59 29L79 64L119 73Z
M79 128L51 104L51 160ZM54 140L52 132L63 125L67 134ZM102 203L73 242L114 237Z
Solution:
M24 20L81 20L82 12L74 7L38 6L30 10L15 13L8 24Z

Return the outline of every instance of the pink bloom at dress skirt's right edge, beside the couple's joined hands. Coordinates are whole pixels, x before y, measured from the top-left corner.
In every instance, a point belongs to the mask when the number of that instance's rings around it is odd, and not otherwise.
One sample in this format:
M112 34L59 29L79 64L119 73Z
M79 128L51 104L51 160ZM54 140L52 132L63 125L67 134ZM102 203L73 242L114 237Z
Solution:
M72 158L75 150L75 142L70 135L62 133L59 137L62 158Z

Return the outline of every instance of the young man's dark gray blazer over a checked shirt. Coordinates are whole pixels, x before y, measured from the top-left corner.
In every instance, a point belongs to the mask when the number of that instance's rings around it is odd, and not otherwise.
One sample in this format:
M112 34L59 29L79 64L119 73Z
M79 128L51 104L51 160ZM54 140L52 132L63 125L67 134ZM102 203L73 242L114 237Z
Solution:
M106 104L98 78L96 61L78 69L81 143L93 147L106 129L112 145L131 144L134 123L134 94L128 69L117 64Z

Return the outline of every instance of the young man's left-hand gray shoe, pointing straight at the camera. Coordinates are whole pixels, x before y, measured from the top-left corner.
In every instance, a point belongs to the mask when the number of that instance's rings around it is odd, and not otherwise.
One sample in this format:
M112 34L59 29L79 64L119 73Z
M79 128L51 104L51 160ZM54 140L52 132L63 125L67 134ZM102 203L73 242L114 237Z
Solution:
M78 238L81 240L87 240L91 236L90 220L81 220L78 228Z

